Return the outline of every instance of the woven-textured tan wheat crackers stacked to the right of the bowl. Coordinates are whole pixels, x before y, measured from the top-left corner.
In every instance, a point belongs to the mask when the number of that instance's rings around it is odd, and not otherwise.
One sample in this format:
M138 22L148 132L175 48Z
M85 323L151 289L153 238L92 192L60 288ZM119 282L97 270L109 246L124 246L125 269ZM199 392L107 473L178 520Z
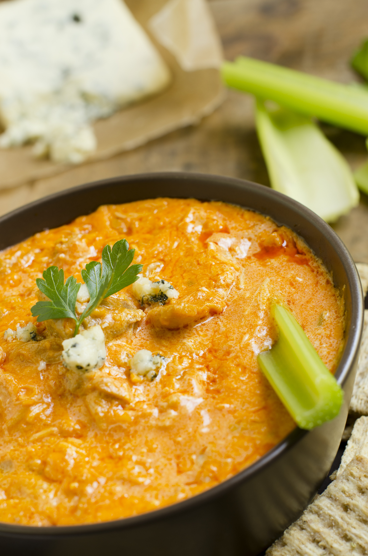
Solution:
M364 295L368 265L357 264ZM368 310L348 424L349 438L334 481L279 540L267 556L361 556L368 554ZM344 437L343 437L344 438Z

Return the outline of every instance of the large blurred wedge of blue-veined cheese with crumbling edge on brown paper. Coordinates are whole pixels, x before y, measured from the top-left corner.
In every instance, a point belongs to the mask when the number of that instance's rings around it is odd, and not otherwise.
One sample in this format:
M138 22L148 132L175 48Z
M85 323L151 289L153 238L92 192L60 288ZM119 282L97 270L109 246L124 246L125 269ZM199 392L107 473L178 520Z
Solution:
M170 72L122 0L0 3L0 147L82 162L92 122L167 86Z

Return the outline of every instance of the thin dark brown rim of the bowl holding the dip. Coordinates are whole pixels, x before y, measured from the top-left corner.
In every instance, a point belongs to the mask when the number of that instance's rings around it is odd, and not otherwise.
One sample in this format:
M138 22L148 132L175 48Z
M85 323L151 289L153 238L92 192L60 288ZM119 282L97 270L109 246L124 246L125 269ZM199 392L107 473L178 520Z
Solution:
M126 182L138 182L138 181L152 181L152 180L197 180L202 182L213 182L217 183L218 185L227 186L231 185L235 188L240 189L243 193L246 192L246 189L253 190L256 192L261 192L265 198L269 200L275 200L277 202L281 202L281 204L288 205L296 214L300 214L304 216L310 223L315 227L315 229L324 235L332 247L334 247L335 251L339 255L339 258L344 266L346 271L348 285L351 293L351 300L352 300L352 315L351 315L351 330L347 341L345 342L344 346L344 353L341 356L340 363L336 369L335 377L337 379L337 383L341 386L345 384L347 377L350 373L352 365L354 364L354 360L356 358L356 354L359 351L360 347L360 340L362 334L362 326L363 326L363 319L364 319L364 298L362 295L362 287L360 283L359 274L356 270L356 266L352 257L347 250L344 243L341 241L340 237L337 236L336 232L332 230L332 228L319 216L317 216L314 212L310 209L301 205L298 201L295 201L291 197L287 197L283 193L279 191L275 191L270 187L266 187L260 185L255 182L251 182L248 180L243 180L241 178L233 178L227 176L220 176L220 175L212 175L207 173L198 173L198 172L146 172L146 173L138 173L138 174L130 174L124 176L115 176L112 178L107 178L105 180L98 180L94 182L87 182L83 183L82 185L78 185L75 187L68 188L66 190L58 191L56 193L52 193L46 197L42 197L28 203L27 205L23 205L18 207L17 209L8 212L7 214L0 217L0 224L6 222L12 217L21 215L23 212L27 210L32 210L37 208L43 204L46 204L49 201L60 199L63 197L72 197L74 193L79 193L84 190L93 190L109 185L123 185ZM175 191L173 191L175 193ZM158 195L159 196L159 195ZM153 195L151 198L158 197ZM166 195L167 196L167 195ZM172 195L172 198L192 198L190 196L183 197L183 196L176 196ZM213 198L213 200L221 201L221 198ZM130 201L125 201L130 202ZM229 201L223 201L229 202ZM107 201L107 204L109 202ZM239 205L242 208L252 209L252 207L248 207L245 205ZM96 207L97 209L97 207ZM94 210L96 210L94 209ZM86 211L85 214L91 214L93 211ZM256 212L259 212L256 210ZM262 214L262 213L260 213ZM82 216L82 215L81 215ZM267 216L267 214L265 214ZM282 222L277 222L277 219L271 217L273 221L278 224L282 224ZM58 227L58 226L55 226ZM37 232L33 232L36 234ZM296 232L297 233L297 232ZM20 240L22 241L22 240ZM354 319L355 316L355 319ZM196 505L206 504L211 502L213 499L221 497L223 494L226 493L227 490L236 487L239 483L247 480L250 476L256 475L260 473L263 469L267 468L272 462L282 453L285 451L290 450L295 444L297 444L304 436L309 434L310 431L302 430L299 428L295 428L291 431L289 435L286 436L279 444L274 446L271 450L267 451L266 454L261 456L261 458L257 459L251 465L246 467L245 469L239 471L231 478L222 481L218 485L212 486L208 490L205 490L199 494L193 495L190 498L185 500L180 500L173 504L167 505L163 508L153 509L148 512L134 515L131 517L126 518L118 518L115 520L110 520L106 522L92 522L92 523L85 523L85 524L75 524L75 525L47 525L44 527L38 527L36 525L18 525L14 523L8 522L0 522L0 533L6 535L8 537L14 537L21 535L22 538L36 538L42 537L43 539L47 538L57 538L59 536L67 535L67 536L78 536L86 533L98 533L108 530L114 529L126 529L126 528L133 528L138 527L141 524L148 524L153 523L156 520L160 520L161 518L171 517L173 514L177 514L178 512L186 512L191 508L195 507Z

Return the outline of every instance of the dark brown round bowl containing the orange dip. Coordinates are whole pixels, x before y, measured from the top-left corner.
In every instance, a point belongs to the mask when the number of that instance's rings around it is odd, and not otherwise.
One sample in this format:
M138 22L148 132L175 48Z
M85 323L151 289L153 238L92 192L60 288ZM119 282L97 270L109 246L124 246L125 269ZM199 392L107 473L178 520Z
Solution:
M330 226L289 197L255 183L194 173L117 177L56 193L0 219L0 249L66 224L105 203L158 196L235 203L269 215L302 236L345 286L346 342L336 371L345 392L340 414L312 431L295 429L262 458L207 492L166 508L112 522L69 527L0 524L3 554L27 556L255 556L314 497L339 446L354 384L364 301L354 262ZM301 291L302 295L302 291Z

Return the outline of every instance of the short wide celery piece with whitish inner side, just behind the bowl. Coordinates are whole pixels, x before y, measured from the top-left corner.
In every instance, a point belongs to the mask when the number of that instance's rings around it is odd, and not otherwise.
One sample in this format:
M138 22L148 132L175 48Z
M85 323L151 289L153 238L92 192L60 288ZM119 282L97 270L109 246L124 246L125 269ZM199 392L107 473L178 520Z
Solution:
M256 125L273 189L337 220L359 203L345 158L310 118L269 105L257 100Z

